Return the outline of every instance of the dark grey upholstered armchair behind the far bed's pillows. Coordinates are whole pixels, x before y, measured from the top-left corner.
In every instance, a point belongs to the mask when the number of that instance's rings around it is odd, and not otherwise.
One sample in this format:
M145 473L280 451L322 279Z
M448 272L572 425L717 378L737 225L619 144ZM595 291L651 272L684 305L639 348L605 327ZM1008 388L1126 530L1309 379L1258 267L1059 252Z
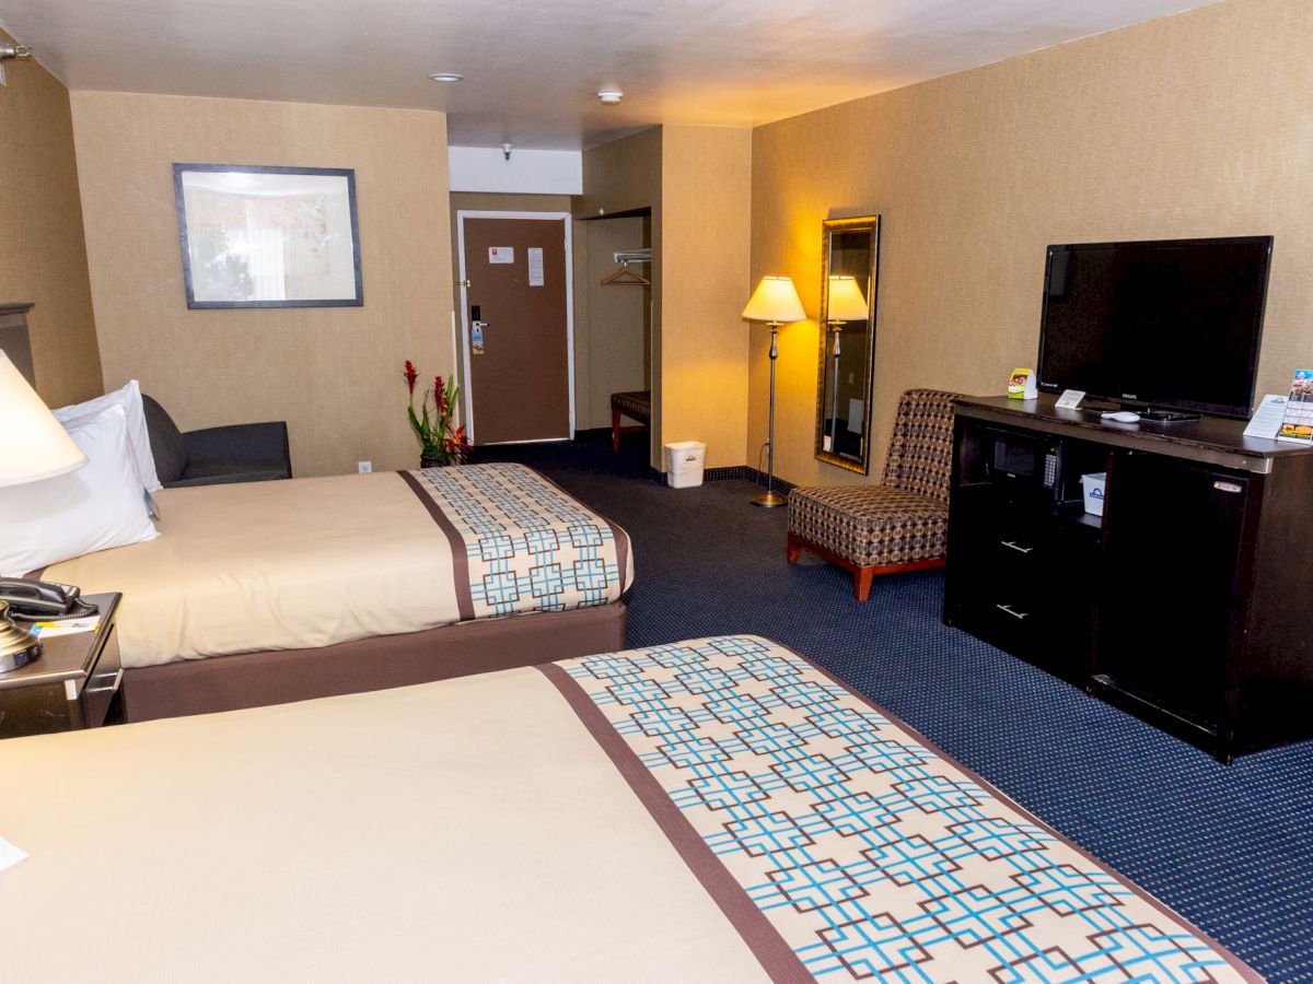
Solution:
M150 396L142 394L142 404L155 471L165 488L291 478L288 425L281 420L184 434Z

